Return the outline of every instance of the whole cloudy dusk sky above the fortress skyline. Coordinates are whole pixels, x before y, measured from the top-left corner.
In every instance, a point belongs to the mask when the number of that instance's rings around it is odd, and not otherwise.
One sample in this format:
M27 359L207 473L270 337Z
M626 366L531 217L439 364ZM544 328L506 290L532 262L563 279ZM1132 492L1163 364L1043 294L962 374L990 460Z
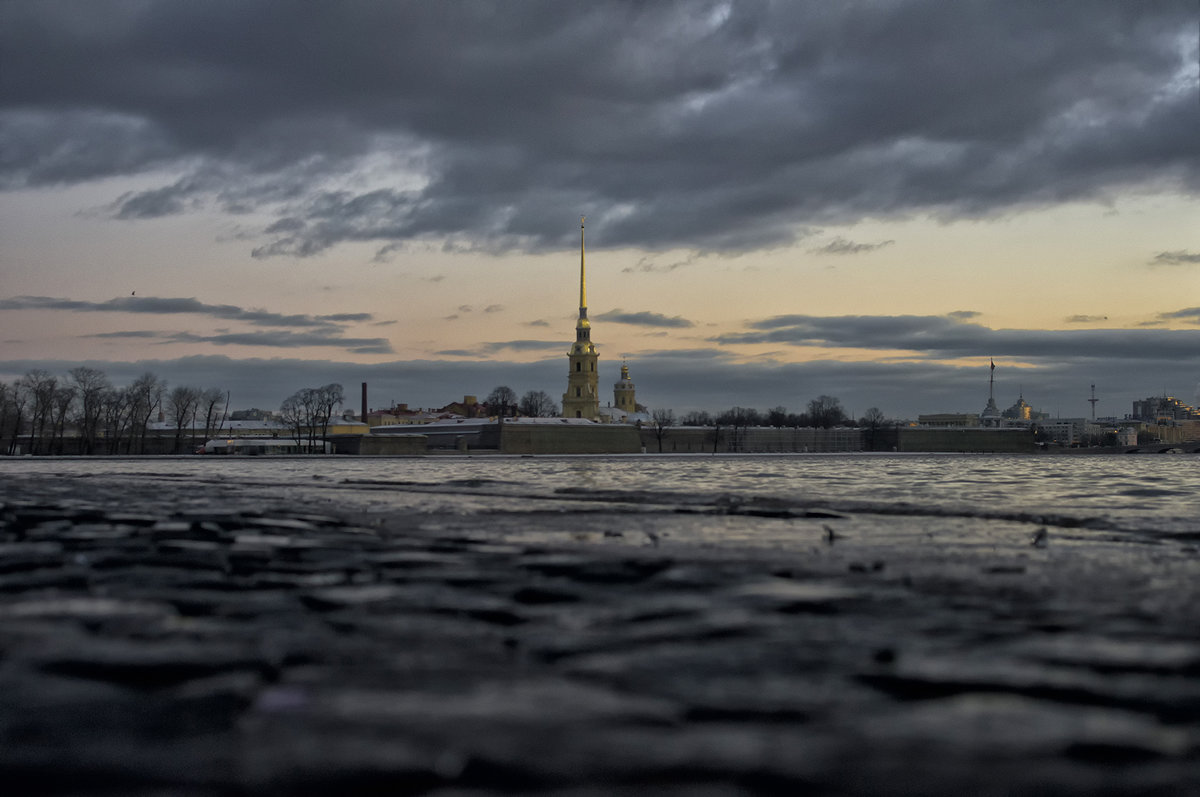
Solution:
M0 380L1200 403L1200 6L0 0Z

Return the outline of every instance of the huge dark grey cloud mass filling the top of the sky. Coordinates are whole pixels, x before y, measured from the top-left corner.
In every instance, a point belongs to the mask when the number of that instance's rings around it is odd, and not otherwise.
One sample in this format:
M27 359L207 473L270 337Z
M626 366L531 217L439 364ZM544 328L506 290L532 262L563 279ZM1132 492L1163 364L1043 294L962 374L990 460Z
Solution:
M5 2L0 186L170 173L114 215L274 215L258 257L536 251L576 212L605 246L748 251L1194 194L1196 38L1183 0Z

